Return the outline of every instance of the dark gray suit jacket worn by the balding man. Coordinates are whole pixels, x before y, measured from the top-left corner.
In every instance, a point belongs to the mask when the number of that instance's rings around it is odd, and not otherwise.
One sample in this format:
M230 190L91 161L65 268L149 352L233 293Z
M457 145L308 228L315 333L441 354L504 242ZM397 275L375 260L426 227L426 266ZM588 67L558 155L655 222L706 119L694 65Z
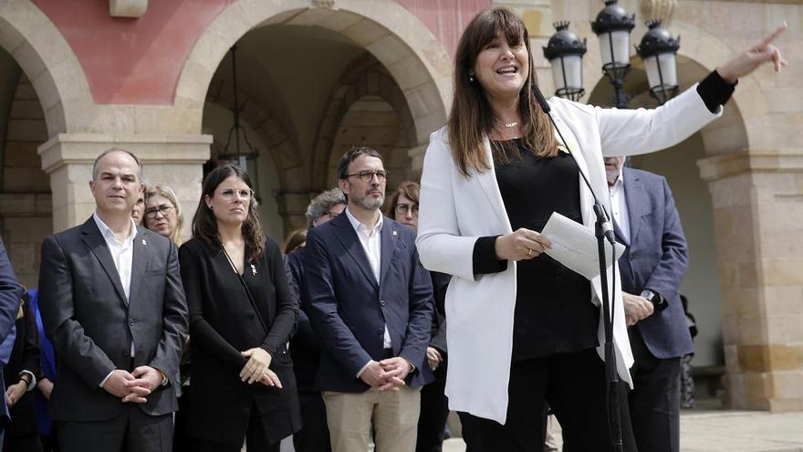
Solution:
M120 399L99 387L114 369L150 365L177 384L187 303L176 248L144 227L137 228L133 247L126 299L91 217L42 245L39 309L57 356L58 378L49 404L56 420L101 421L119 415ZM141 409L148 415L177 408L172 388L157 389L147 399Z

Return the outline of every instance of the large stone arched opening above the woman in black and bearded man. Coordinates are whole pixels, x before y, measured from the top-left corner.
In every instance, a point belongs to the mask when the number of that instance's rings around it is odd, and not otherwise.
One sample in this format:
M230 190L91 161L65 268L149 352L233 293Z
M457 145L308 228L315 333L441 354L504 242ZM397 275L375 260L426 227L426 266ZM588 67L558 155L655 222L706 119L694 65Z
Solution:
M224 143L224 109L233 106L226 53L236 43L241 121L259 151L261 214L275 237L304 226L310 196L335 184L332 166L351 145L383 153L394 174L389 186L408 178L411 150L445 121L450 66L429 30L395 2L376 2L385 11L374 3L287 4L244 0L224 10L176 91L177 103L193 105L203 89L203 131ZM213 145L213 160L220 147Z

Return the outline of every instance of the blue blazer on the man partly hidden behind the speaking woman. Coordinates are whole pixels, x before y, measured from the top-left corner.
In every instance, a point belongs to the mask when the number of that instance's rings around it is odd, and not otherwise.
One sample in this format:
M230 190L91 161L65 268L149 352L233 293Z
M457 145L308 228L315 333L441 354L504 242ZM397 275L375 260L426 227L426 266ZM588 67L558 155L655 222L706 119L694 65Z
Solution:
M630 216L630 243L619 259L621 289L639 295L643 289L658 292L666 309L636 323L635 328L656 358L676 358L694 352L683 314L680 286L689 262L683 226L672 190L658 174L622 168L625 199Z

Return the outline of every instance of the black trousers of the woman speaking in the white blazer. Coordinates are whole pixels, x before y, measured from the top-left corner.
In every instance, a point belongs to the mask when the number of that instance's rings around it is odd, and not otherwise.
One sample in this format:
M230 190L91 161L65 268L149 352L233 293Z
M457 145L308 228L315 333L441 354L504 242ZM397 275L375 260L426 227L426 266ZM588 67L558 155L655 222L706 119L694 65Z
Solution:
M515 362L507 387L507 422L459 413L466 452L543 452L546 404L563 428L564 452L613 451L604 363L594 349ZM623 450L635 452L627 396L620 399Z

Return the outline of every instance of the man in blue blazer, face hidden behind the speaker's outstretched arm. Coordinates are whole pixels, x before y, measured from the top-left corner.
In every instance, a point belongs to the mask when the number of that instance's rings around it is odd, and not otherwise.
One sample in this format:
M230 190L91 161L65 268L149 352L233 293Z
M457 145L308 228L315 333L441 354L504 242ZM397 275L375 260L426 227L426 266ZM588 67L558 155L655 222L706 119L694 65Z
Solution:
M629 395L639 450L680 449L681 357L694 350L678 293L689 256L672 191L662 176L605 158L622 301L635 363Z

